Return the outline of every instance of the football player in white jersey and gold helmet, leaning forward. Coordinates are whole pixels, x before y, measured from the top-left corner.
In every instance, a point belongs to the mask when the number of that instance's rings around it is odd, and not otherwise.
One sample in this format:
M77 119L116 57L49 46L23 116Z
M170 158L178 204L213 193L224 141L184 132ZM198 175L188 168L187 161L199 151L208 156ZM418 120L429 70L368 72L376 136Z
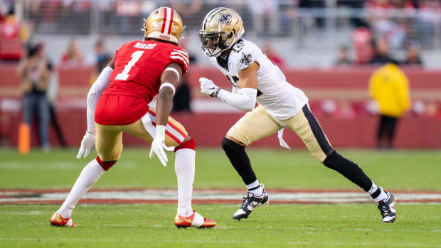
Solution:
M395 199L392 193L378 188L356 163L337 153L329 144L302 90L287 82L282 71L254 43L241 38L242 18L228 8L216 8L203 18L199 36L202 48L211 63L233 84L231 92L201 77L201 92L216 97L237 109L248 111L228 131L222 148L242 177L248 195L233 219L240 220L258 206L268 203L263 189L245 152L245 147L279 131L280 144L284 128L294 131L309 152L324 166L331 168L363 188L378 205L383 222L394 222ZM259 106L255 107L255 103Z

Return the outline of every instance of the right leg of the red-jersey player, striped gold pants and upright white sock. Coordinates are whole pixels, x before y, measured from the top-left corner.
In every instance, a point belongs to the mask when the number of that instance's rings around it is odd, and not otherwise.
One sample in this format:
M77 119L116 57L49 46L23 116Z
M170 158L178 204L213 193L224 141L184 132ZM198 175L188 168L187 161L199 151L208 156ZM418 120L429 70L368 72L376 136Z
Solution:
M155 135L156 118L153 108L139 121L123 126L123 130L146 141L152 142ZM178 227L213 227L216 222L207 220L193 211L191 195L195 173L196 142L188 136L179 122L169 117L166 125L166 146L174 146L176 153L174 169L178 180L178 210L175 225Z

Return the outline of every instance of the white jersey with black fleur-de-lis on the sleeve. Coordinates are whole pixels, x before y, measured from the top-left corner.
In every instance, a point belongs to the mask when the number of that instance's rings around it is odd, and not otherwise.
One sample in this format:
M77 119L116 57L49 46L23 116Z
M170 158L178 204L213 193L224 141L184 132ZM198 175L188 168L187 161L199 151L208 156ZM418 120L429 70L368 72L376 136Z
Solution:
M250 41L241 39L233 45L233 49L225 60L221 57L210 57L210 62L228 77L234 87L239 87L238 71L257 62L259 70L257 70L256 101L268 114L277 119L293 117L308 102L304 92L289 84L283 72L272 64L257 45Z

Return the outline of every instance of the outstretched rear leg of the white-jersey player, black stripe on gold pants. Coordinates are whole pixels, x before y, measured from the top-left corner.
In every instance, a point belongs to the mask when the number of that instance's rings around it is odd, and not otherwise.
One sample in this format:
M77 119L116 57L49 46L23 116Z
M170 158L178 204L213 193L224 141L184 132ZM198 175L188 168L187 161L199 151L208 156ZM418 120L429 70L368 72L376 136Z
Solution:
M382 188L378 188L356 163L344 158L332 148L322 127L307 104L294 117L283 120L282 123L288 126L289 129L292 129L304 141L309 152L320 163L339 172L369 193L375 202L378 203L378 208L383 215L383 222L395 221L395 200L393 195L387 193Z

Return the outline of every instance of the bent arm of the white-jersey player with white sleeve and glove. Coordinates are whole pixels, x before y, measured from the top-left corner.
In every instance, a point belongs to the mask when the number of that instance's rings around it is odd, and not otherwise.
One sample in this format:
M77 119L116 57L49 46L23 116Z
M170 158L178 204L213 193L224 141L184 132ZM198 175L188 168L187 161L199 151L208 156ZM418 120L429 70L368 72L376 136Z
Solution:
M217 97L222 102L236 109L252 111L257 97L257 70L259 70L259 64L254 62L247 68L238 71L240 94L222 90L213 81L204 77L199 79L199 82L201 82L201 92L204 95Z

